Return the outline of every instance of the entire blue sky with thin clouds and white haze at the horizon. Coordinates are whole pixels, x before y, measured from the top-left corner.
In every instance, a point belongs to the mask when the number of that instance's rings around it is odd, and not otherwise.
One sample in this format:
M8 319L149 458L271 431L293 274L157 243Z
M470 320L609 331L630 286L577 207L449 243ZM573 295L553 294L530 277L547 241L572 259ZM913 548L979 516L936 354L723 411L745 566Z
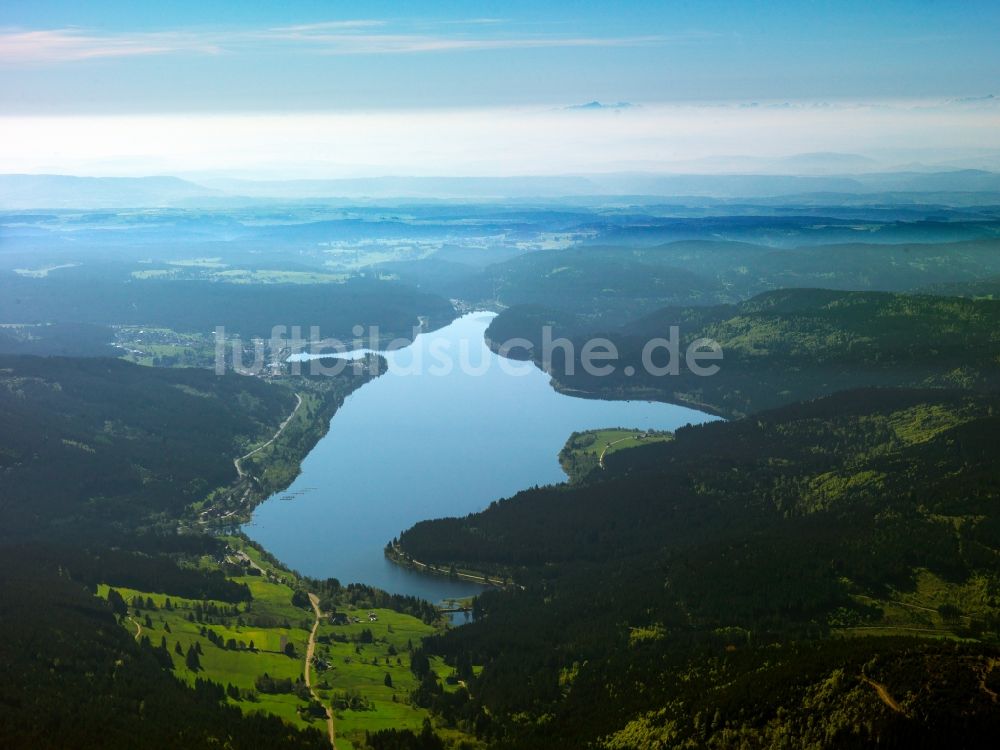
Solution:
M998 74L995 0L5 0L0 171L941 161L1000 149Z

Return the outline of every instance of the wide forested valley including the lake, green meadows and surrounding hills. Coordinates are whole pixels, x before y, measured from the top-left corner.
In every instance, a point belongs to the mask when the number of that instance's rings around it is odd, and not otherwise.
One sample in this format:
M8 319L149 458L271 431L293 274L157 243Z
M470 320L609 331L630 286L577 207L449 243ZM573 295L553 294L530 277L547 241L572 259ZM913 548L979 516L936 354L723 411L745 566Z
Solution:
M209 278L250 265L221 248L0 275L5 549L38 561L5 597L90 597L99 669L143 675L108 705L165 674L206 742L903 747L954 720L950 685L989 735L998 312L960 285L994 245L887 245L915 260L876 290L845 261L874 244L611 249L620 228L559 221L580 244L366 241L337 279ZM785 288L788 253L826 288ZM750 263L739 291L724 269ZM310 319L343 345L295 340ZM656 374L673 326L720 345L717 374ZM595 337L608 375L565 354Z

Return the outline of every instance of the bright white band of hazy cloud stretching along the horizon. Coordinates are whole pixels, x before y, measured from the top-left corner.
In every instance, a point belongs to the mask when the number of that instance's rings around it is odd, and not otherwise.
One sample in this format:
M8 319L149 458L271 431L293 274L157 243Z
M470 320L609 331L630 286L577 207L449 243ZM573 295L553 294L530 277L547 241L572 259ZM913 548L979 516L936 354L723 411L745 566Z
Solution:
M793 104L645 103L622 117L550 108L0 116L0 172L333 178L725 174L766 167L789 173L836 167L829 156L783 161L792 154L859 154L889 167L921 161L988 168L1000 152L1000 109Z

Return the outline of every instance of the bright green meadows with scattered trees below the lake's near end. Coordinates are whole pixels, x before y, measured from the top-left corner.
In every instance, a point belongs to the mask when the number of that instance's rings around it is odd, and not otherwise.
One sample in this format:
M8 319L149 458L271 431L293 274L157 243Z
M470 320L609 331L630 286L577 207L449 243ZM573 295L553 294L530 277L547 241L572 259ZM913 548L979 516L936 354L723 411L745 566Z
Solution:
M295 726L325 731L323 718L308 710L309 694L300 683L314 613L308 604L293 605L292 596L297 589L305 590L305 583L243 539L225 540L229 549L224 563L204 557L199 565L224 569L230 580L245 583L252 595L250 602L196 601L116 587L129 605L122 626L136 637L148 637L153 646L165 639L174 673L180 679L232 685L239 697L231 695L227 700L245 712L265 711ZM228 574L234 570L241 574ZM101 585L97 595L106 598L108 589ZM333 707L337 747L351 750L362 745L366 731L419 731L430 715L411 702L410 694L418 681L410 671L410 657L424 637L439 632L444 625L428 625L390 609L355 607L346 599L332 604L349 622L334 625L330 612L324 612L310 668L321 701ZM327 609L331 609L329 604ZM288 644L290 653L285 651ZM198 670L186 664L192 647L200 648ZM432 659L431 668L445 690L458 689L454 679L448 682L451 667ZM289 680L292 692L262 691L259 678L265 674L274 680ZM447 729L439 732L456 740L469 739Z

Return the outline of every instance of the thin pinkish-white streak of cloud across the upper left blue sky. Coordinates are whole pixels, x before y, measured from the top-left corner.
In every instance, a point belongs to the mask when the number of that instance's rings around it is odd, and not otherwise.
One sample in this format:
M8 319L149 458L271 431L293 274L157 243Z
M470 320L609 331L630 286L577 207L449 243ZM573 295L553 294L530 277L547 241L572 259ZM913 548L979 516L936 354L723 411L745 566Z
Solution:
M493 27L500 19L461 22ZM166 54L214 55L274 46L324 55L419 54L566 47L637 47L702 38L675 36L489 36L471 33L400 33L384 21L354 19L265 29L99 32L78 28L0 29L0 64L70 63Z

